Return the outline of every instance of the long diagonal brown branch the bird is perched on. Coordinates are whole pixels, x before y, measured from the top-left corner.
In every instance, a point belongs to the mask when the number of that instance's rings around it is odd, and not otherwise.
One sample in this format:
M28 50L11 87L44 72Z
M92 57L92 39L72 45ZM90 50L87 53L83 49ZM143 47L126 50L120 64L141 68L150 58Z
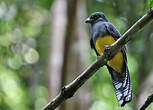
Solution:
M147 14L139 19L123 36L118 39L111 46L105 48L104 54L91 64L82 74L80 74L74 81L62 88L61 92L50 101L42 110L54 110L66 99L71 98L74 93L102 66L106 64L129 40L135 32L142 29L153 19L153 8Z

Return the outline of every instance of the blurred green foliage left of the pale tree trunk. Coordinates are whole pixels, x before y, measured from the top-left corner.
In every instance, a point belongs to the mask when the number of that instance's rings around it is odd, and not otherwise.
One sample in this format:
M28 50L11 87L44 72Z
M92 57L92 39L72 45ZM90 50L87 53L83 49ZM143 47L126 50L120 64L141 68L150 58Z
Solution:
M51 3L0 0L0 110L39 110L46 103L47 89L38 79L45 63L41 71L34 68L46 60Z

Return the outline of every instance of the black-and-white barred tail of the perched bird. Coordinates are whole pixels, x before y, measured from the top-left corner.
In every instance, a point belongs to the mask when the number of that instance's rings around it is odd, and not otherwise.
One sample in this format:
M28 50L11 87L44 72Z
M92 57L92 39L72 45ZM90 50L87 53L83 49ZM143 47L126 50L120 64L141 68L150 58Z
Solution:
M126 63L124 64L122 73L116 72L111 67L107 66L109 73L111 74L119 106L124 106L132 100L132 87L130 84L129 71Z

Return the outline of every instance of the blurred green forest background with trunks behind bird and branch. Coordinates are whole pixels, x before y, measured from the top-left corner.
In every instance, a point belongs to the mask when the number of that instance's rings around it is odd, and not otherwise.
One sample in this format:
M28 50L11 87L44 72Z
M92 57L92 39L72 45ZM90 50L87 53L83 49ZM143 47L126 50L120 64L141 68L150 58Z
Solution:
M0 0L0 110L40 110L96 60L84 21L104 12L123 34L152 0ZM121 108L102 67L57 110L137 110L153 93L153 24L127 45L133 100ZM150 105L147 110L152 110Z

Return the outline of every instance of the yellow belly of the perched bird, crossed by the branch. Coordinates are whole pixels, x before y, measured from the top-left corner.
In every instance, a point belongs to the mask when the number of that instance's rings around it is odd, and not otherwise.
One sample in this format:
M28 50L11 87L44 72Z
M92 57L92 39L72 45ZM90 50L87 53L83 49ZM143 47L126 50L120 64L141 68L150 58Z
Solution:
M99 37L96 40L95 48L98 52L98 54L102 55L105 49L104 45L111 45L115 42L114 38L112 36L105 36L105 37ZM111 60L107 62L107 65L112 67L115 71L120 72L122 71L123 66L123 54L122 52L118 52Z

